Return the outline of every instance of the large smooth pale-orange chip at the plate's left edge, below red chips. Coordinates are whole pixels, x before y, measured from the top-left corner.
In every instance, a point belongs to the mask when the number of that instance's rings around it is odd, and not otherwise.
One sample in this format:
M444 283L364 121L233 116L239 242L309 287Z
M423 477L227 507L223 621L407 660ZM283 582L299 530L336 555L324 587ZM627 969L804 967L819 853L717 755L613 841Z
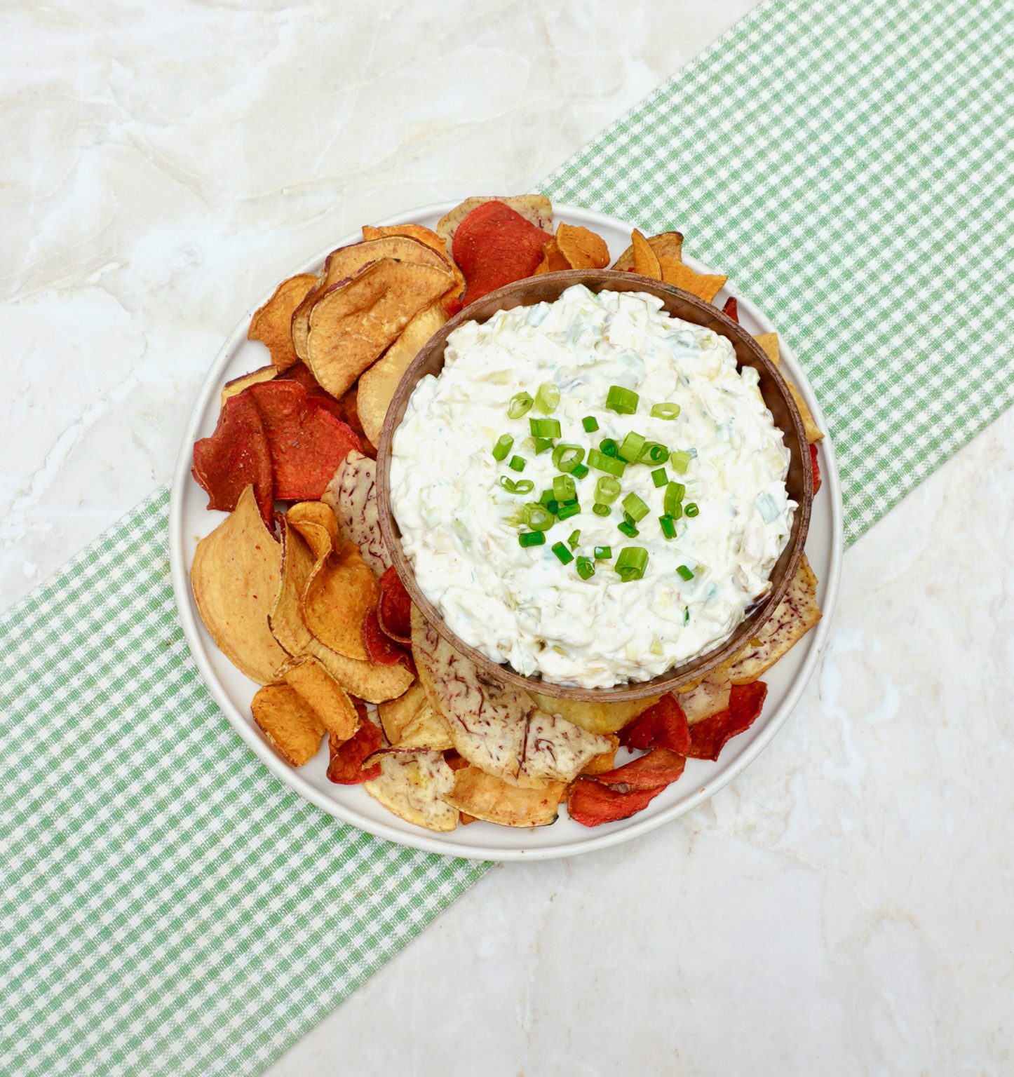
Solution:
M267 626L279 589L281 547L247 487L236 508L197 543L194 601L219 649L252 681L267 684L286 659Z

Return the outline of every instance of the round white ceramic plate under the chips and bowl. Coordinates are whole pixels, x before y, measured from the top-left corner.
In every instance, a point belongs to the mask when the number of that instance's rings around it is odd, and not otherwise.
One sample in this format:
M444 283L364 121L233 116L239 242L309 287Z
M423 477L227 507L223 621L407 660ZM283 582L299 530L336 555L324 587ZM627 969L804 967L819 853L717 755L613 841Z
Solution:
M444 202L439 206L427 206L380 223L404 224L415 221L433 227L455 205L457 204ZM615 218L570 206L555 206L554 210L558 221L583 224L597 232L609 243L613 257L616 257L630 242L629 226ZM293 269L293 272L317 271L331 250L357 242L360 238L356 234L329 243L317 257ZM713 271L690 257L685 257L684 261L695 269ZM269 294L261 296L239 320L211 365L198 394L194 412L183 436L172 482L169 549L176 601L183 623L183 632L197 668L236 731L280 782L336 819L404 845L474 859L548 859L615 845L662 826L663 823L679 817L706 800L756 758L802 695L817 665L831 625L842 563L842 494L834 453L828 438L820 443L820 472L823 485L814 501L806 542L806 554L820 581L818 599L823 611L822 620L764 675L768 685L767 700L763 714L752 728L731 740L723 749L718 763L689 759L683 777L633 819L589 829L572 822L561 812L560 817L552 826L513 829L495 826L491 823L472 823L470 826L459 826L450 834L433 834L402 822L357 786L334 785L329 782L325 774L327 741L317 757L298 770L282 763L263 739L250 716L250 700L258 686L244 676L214 645L200 623L190 589L190 567L197 541L208 534L223 518L223 514L207 509L207 494L191 478L193 443L214 430L222 386L231 378L264 366L268 362L264 346L247 340L247 328L251 313L267 300ZM734 286L719 295L717 299L719 305L724 302L726 294L737 297L739 320L751 333L766 333L776 328ZM814 393L784 344L781 354L782 369L803 392L818 425L827 430L827 423L823 421Z

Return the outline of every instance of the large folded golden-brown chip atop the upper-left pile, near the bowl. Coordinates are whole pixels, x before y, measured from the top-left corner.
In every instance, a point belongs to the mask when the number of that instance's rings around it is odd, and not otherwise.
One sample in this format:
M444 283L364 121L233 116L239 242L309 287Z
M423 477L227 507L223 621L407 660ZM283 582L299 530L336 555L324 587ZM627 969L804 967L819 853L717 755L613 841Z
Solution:
M415 241L391 237L374 242ZM428 247L416 246L439 257ZM309 314L305 359L314 377L332 396L343 396L413 316L453 283L454 274L446 263L434 266L385 257L348 281L331 285Z

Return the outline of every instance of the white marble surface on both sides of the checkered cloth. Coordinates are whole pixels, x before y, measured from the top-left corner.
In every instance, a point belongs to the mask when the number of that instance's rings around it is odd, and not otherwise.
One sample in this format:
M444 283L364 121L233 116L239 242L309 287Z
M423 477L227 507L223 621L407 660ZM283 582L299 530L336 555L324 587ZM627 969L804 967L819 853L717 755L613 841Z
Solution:
M3 10L0 603L168 478L251 298L520 191L752 6ZM498 868L273 1077L1006 1074L1014 416L849 551L818 676L707 807Z

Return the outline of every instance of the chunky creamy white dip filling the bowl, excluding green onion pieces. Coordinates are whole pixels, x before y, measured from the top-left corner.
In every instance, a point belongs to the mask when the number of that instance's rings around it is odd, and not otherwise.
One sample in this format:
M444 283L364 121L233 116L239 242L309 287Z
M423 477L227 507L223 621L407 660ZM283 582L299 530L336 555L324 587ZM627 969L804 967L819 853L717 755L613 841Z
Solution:
M788 541L795 508L784 484L789 452L756 373L737 369L726 338L661 307L643 293L596 295L578 285L553 304L468 322L449 337L440 376L419 381L394 433L391 503L419 587L460 639L523 674L608 687L664 673L730 635L769 588ZM685 475L663 465L685 486L684 503L698 507L678 521L676 538L666 540L658 522L657 464L630 463L609 516L592 510L602 475L592 468L577 481L580 514L554 522L544 545L519 545L528 530L522 506L560 472L551 452L537 456L525 444L529 419L542 416L510 419L508 405L518 392L534 396L543 382L559 388L552 418L562 442L598 448L636 431L693 454ZM636 414L607 409L611 386L639 394ZM653 418L657 403L678 404L678 418ZM584 431L586 416L597 431ZM502 434L514 445L498 462L491 450ZM520 473L508 466L514 456L527 461ZM509 493L501 476L531 479L534 490ZM636 537L617 529L629 492L651 509ZM592 558L596 546L613 555L595 561L588 579L552 550L579 529L574 557ZM617 575L625 546L649 551L643 578ZM681 565L692 579L681 578Z

